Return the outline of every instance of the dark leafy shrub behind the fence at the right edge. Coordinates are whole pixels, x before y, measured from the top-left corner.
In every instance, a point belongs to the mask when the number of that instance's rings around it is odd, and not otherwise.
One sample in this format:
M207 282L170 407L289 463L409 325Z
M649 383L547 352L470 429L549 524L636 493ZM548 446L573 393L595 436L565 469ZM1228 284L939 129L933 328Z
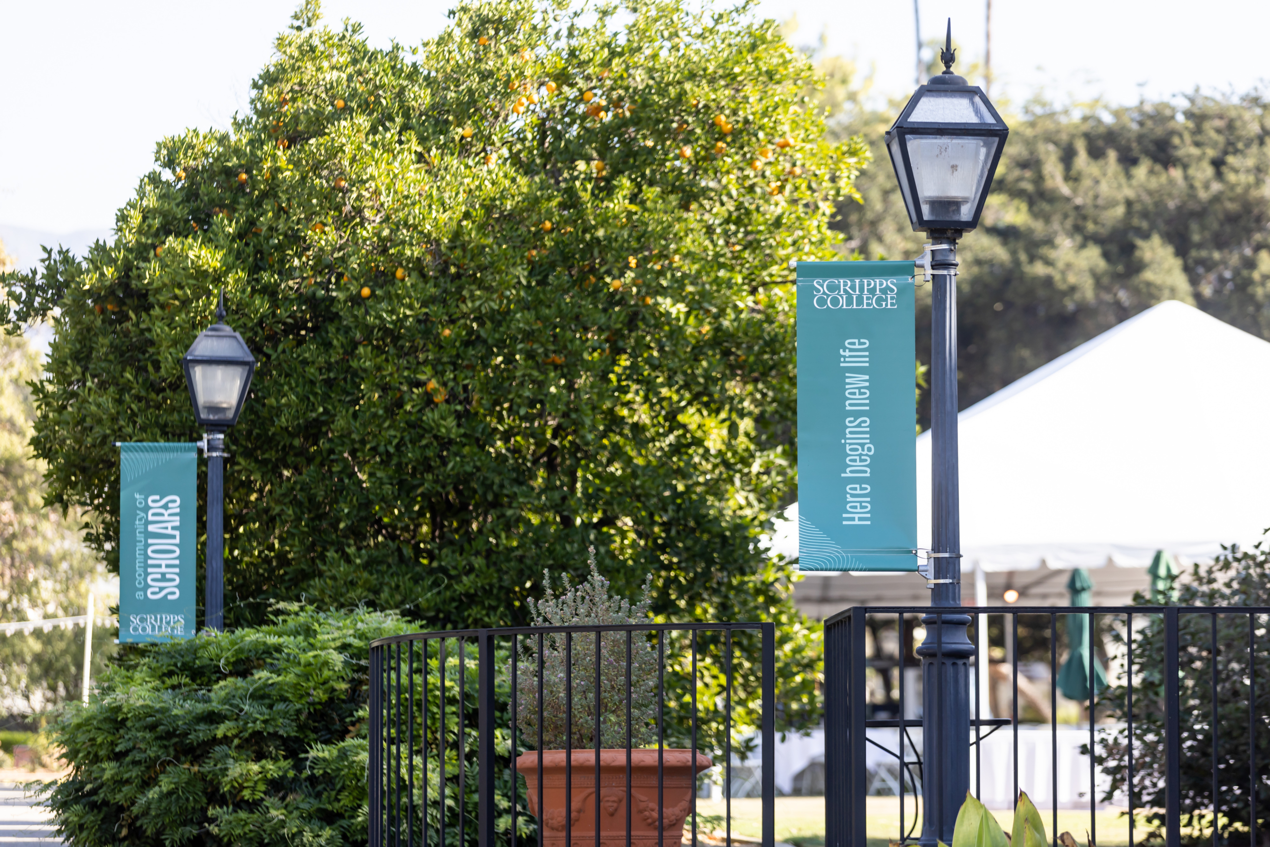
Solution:
M1134 599L1138 604L1148 602L1140 593ZM1227 610L1270 606L1270 550L1265 541L1251 550L1228 550L1213 563L1196 563L1177 580L1176 597L1168 604ZM1250 801L1253 785L1256 827L1260 832L1270 827L1270 763L1264 754L1255 753L1270 744L1270 728L1261 717L1270 711L1267 617L1238 611L1179 615L1181 653L1176 707L1184 752L1179 764L1179 795L1182 833L1190 842L1251 843L1248 822L1253 819ZM1123 635L1118 637L1124 640ZM1128 686L1116 686L1100 697L1101 706L1118 721L1118 729L1109 731L1097 745L1099 764L1110 777L1104 800L1110 801L1113 795L1128 796L1132 776L1134 805L1149 809L1139 814L1152 827L1152 836L1162 838L1165 723L1170 705L1165 697L1165 622L1158 615L1135 616L1132 672L1132 775L1125 730L1130 704ZM1255 747L1250 747L1252 744ZM1213 836L1214 808L1219 815L1217 838Z

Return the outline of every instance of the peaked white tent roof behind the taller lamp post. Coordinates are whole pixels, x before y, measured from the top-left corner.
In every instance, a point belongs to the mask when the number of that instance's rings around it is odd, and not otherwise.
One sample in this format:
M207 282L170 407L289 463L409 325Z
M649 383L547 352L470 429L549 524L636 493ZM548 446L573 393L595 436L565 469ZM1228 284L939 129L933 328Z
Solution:
M1270 527L1270 343L1168 301L959 415L969 566L1142 568ZM930 546L931 439L917 439ZM773 552L796 550L781 522Z

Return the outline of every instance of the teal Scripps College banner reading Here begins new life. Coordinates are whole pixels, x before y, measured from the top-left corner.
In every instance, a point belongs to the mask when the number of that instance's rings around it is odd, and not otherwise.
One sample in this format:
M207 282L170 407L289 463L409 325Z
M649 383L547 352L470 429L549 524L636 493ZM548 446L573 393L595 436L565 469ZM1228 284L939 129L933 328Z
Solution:
M917 570L914 333L912 262L799 262L799 570Z

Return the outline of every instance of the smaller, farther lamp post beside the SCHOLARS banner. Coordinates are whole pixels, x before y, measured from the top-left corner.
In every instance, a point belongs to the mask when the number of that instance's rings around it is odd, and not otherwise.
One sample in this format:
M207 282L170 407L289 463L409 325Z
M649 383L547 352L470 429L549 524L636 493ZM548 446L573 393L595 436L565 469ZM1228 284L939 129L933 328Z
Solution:
M251 386L255 359L243 337L225 324L225 290L216 323L199 333L180 361L194 404L194 420L204 429L207 456L207 566L203 626L225 630L225 430L237 423Z

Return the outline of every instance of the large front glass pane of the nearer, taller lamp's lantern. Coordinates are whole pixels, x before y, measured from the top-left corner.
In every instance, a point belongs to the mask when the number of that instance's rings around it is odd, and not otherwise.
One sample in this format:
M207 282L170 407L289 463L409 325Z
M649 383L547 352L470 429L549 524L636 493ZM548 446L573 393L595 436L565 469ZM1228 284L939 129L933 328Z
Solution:
M922 217L972 221L996 150L997 138L991 136L908 136Z

